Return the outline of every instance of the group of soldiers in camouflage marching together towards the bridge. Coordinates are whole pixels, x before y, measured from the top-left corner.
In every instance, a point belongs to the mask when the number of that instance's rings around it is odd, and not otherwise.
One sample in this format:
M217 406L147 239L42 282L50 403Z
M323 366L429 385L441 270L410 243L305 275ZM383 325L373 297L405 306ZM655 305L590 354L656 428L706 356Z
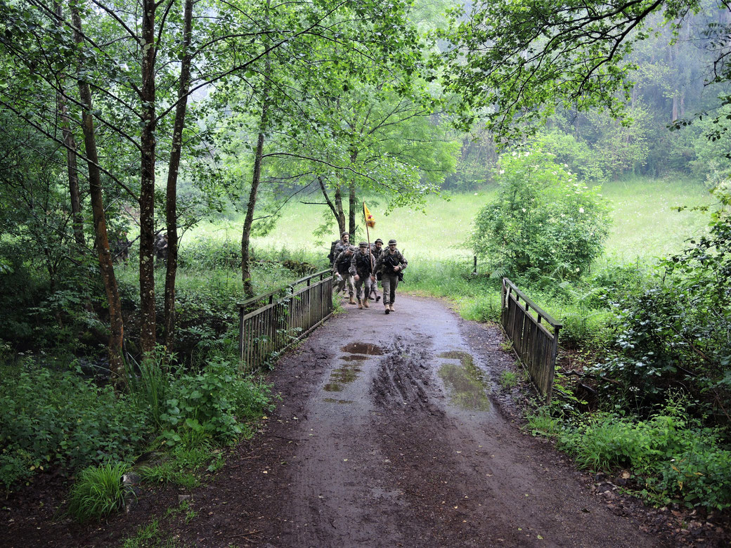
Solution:
M368 242L352 246L348 232L341 234L340 240L330 249L330 262L336 277L336 293L348 288L349 303L358 308L369 308L368 301L380 300L378 281L383 289L383 305L386 313L395 312L396 287L404 279L404 270L409 264L406 257L396 248L396 240L388 240L384 248L380 238L368 248Z

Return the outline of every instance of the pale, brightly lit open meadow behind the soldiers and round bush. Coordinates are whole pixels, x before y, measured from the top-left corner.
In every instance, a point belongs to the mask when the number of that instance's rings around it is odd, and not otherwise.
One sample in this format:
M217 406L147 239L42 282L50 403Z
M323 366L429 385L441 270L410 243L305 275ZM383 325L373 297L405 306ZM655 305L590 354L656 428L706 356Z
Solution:
M638 259L652 260L678 251L683 241L705 230L708 218L703 213L678 206L696 206L711 202L711 196L702 184L687 180L656 180L637 178L613 181L602 187L602 194L613 208L613 227L606 243L606 256L620 262ZM493 189L463 194L444 194L427 199L424 210L399 208L385 215L385 204L366 200L368 209L376 218L371 229L371 241L376 237L387 241L398 240L398 247L412 261L441 262L444 260L469 263L471 250L465 246L472 227L472 219L495 195ZM337 228L319 240L312 235L320 224L324 205L306 205L292 202L287 205L273 232L252 238L252 246L262 251L302 254L314 260L326 256L330 241L336 240ZM234 245L240 241L243 216L200 224L183 240L228 240ZM363 224L355 240L365 239Z

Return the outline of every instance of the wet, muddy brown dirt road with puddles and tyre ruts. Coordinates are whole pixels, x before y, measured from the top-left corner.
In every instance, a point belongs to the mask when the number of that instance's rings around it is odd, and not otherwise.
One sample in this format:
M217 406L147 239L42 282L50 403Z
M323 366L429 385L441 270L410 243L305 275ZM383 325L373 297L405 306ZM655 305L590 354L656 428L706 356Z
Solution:
M263 433L194 495L200 546L637 547L586 476L496 405L501 334L436 300L348 306L273 373Z

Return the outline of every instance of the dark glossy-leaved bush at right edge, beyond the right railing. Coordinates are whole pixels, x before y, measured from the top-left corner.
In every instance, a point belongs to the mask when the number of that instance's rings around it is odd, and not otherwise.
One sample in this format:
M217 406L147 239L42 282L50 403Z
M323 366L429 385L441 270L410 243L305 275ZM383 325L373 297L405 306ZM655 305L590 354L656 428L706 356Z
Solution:
M653 285L616 302L616 355L596 366L600 387L645 409L672 387L692 391L711 413L731 401L731 222L727 195L708 235L659 266ZM717 407L716 407L717 406Z

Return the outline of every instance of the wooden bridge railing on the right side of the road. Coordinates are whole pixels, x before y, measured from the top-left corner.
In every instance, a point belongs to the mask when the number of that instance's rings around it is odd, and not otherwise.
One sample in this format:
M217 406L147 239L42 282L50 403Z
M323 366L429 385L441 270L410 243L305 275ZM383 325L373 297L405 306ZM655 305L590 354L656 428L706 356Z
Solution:
M520 304L520 300L525 305ZM541 310L507 278L502 279L500 322L520 361L528 368L531 381L550 403L553 373L556 369L558 331L561 324ZM537 317L531 314L533 310ZM548 330L541 320L550 325ZM551 332L553 331L553 332Z

